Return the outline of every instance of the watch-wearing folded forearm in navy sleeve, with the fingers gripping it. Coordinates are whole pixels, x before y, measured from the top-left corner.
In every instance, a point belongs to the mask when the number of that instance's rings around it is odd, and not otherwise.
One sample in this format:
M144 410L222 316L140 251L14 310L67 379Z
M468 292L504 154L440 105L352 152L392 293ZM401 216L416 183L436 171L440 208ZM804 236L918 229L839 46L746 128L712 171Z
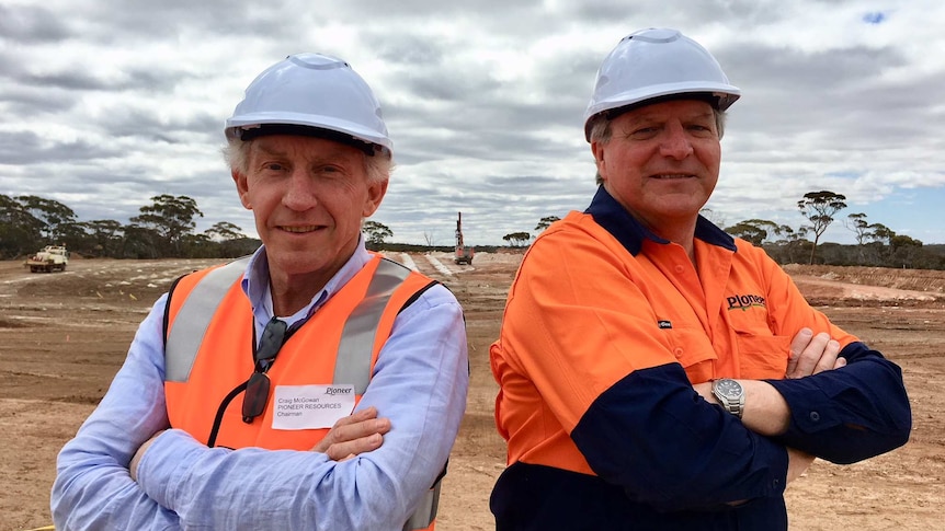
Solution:
M840 350L827 333L802 328L785 379L739 382L745 427L801 452L846 464L909 439L912 412L901 369L863 343ZM693 388L717 403L710 382Z

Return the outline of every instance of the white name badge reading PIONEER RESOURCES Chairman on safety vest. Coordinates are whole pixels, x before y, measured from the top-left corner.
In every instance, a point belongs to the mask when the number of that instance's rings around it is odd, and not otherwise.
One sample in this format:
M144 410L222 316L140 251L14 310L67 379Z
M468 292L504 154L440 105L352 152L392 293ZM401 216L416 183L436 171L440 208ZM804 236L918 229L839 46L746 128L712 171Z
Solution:
M354 411L354 384L276 385L272 429L321 429Z

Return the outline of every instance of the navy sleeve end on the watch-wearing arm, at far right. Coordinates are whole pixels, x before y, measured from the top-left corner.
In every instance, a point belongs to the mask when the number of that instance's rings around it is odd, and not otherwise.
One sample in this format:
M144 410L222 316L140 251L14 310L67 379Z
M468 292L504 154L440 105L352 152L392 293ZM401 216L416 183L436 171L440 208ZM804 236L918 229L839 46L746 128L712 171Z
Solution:
M912 409L902 371L863 343L840 353L847 365L797 380L766 380L790 407L775 440L833 463L862 461L909 440Z

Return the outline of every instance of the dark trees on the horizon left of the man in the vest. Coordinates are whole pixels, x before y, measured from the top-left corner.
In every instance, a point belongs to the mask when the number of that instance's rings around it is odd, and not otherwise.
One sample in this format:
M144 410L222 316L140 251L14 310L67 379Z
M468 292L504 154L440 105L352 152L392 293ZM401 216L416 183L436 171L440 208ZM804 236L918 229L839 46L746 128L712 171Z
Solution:
M204 213L191 197L164 194L150 200L128 223L121 223L79 221L75 210L57 200L0 194L0 259L27 256L49 244L110 258L230 258L259 247L259 240L228 221L196 233L195 220Z

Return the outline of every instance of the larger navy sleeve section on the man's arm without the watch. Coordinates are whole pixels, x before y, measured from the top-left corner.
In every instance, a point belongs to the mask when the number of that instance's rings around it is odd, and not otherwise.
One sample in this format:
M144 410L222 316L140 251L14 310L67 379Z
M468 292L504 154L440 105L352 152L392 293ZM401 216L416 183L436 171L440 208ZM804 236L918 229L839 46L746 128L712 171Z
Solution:
M706 402L678 363L615 383L571 438L601 478L662 510L720 507L785 488L786 449Z

